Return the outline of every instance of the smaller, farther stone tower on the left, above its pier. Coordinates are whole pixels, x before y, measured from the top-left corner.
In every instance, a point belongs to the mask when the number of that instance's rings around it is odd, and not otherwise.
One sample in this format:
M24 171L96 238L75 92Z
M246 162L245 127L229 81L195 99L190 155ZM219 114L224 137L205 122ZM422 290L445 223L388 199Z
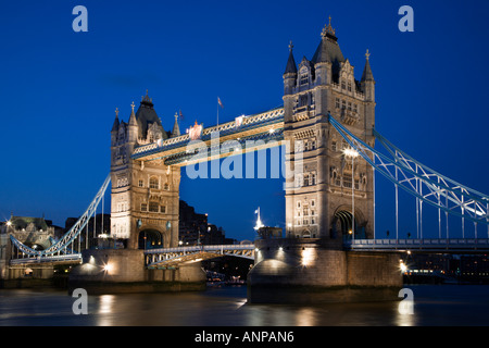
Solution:
M128 249L176 247L180 169L131 159L135 148L167 139L152 99L142 98L128 123L118 110L111 130L111 235Z

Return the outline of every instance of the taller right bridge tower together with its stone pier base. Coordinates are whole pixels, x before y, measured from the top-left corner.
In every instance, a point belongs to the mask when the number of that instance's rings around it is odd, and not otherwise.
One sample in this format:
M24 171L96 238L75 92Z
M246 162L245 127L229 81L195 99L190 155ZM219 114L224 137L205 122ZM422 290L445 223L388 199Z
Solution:
M344 249L374 236L374 172L329 123L329 115L374 146L375 80L360 80L330 18L311 60L292 45L284 73L286 238L256 239L249 302L318 303L396 299L399 256ZM292 175L293 173L293 175Z

